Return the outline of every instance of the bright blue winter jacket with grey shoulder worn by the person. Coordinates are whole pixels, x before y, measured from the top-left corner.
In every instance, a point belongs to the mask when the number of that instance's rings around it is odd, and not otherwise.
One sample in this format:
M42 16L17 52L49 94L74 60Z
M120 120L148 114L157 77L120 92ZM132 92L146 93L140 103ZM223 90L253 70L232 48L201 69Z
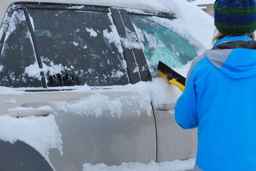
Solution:
M256 171L256 41L233 36L194 59L175 107L198 128L198 171Z

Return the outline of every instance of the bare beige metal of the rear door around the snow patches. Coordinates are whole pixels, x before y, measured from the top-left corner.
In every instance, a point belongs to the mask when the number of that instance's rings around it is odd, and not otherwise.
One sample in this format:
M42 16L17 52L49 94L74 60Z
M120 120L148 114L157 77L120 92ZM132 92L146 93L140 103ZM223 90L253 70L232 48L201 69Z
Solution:
M132 93L134 92L101 90L99 95L129 98ZM157 141L153 111L151 116L148 116L136 105L123 105L120 118L116 115L111 116L109 111L102 111L102 116L97 118L90 113L74 114L72 110L64 112L61 108L58 109L59 101L77 103L94 94L54 92L0 95L0 99L17 101L16 104L0 103L0 109L7 111L24 103L40 103L52 107L63 142L63 155L58 149L49 151L49 163L57 171L81 171L85 163L121 165L122 162L156 161ZM90 100L84 100L84 104L88 103L87 101ZM140 110L140 116L137 110Z

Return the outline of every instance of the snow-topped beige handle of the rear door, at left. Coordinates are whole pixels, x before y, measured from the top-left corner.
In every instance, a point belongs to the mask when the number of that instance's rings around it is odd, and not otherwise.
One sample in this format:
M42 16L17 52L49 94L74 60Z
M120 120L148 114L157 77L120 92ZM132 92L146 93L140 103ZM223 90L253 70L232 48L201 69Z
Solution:
M25 117L25 116L48 116L52 113L52 108L49 106L32 108L32 107L16 107L7 110L9 116Z

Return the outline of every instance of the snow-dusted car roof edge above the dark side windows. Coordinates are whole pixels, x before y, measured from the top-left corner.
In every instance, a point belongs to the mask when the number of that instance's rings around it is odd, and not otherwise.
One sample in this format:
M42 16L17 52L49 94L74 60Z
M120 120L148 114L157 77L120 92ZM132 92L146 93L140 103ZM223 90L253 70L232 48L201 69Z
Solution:
M14 3L19 3L20 0L0 0L0 21L6 13L9 6ZM128 0L23 0L23 3L58 3L58 4L74 4L74 5L93 5L93 6L107 6L107 7L119 7L128 9L141 9L145 11L166 12L174 14L171 10L165 8L157 8L151 3L140 3L140 0L128 1ZM1 24L0 24L1 25Z

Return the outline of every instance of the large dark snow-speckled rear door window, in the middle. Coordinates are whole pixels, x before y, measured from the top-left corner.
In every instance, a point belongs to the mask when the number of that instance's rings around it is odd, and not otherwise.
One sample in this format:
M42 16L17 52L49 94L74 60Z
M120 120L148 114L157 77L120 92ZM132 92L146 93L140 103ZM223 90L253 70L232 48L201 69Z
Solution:
M29 10L48 87L129 84L109 13ZM117 35L118 36L118 35Z

